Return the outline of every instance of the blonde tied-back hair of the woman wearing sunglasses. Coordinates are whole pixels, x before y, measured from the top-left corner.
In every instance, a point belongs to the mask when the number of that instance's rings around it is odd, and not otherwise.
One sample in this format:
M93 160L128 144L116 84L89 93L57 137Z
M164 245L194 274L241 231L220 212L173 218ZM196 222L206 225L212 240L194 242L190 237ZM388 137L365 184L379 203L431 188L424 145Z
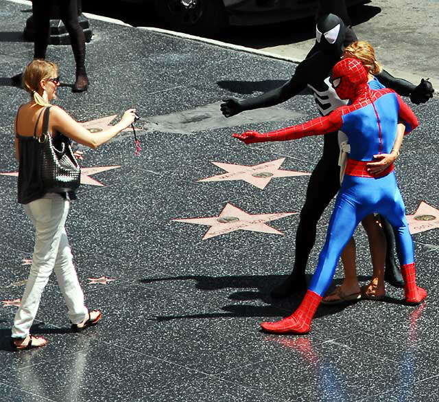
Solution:
M41 96L38 91L40 90L40 81L48 80L54 75L58 75L58 67L50 61L36 58L27 65L23 73L23 87L33 96L36 104L50 106L49 100Z

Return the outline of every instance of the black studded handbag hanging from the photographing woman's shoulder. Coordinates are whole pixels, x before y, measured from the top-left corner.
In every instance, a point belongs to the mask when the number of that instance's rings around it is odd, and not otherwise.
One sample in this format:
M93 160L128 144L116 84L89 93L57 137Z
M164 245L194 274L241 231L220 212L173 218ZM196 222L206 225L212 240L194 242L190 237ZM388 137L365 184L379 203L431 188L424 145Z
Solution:
M48 133L49 111L50 107L44 111L43 133L38 139L41 180L47 192L73 191L80 186L81 168L73 155L70 139L61 133L57 133L58 137L52 138Z

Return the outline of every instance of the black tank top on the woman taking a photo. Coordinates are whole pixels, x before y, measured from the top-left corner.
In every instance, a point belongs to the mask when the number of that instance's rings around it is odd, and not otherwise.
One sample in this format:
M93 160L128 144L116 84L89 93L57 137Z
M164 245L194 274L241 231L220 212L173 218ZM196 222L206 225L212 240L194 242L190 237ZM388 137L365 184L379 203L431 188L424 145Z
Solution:
M40 121L41 115L45 108L41 109L40 114L35 123L34 135L20 135L16 133L15 136L19 141L19 179L17 181L18 187L18 201L21 204L27 204L36 199L43 198L47 193L43 186L40 174L40 144L38 143L38 137L36 136L36 128ZM18 129L19 111L16 115L15 126ZM53 137L54 145L61 141L62 134L56 131ZM58 193L64 199L73 200L76 199L75 192L60 192Z

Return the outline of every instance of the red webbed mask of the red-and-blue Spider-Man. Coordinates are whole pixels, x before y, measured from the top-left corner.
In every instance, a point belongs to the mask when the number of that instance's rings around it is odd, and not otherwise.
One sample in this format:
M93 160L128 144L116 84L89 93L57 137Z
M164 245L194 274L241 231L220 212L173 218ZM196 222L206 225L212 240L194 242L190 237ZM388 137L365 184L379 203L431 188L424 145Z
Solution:
M340 99L354 100L368 82L368 72L356 58L344 58L332 69L331 83Z

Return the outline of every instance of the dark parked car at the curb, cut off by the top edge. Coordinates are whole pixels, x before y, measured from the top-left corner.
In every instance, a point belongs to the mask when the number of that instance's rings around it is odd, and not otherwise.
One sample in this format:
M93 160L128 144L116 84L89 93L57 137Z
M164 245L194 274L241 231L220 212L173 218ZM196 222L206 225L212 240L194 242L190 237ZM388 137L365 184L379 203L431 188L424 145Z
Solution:
M263 25L312 16L318 0L123 0L151 3L158 19L183 32L215 32L226 25ZM346 0L348 7L368 0Z

